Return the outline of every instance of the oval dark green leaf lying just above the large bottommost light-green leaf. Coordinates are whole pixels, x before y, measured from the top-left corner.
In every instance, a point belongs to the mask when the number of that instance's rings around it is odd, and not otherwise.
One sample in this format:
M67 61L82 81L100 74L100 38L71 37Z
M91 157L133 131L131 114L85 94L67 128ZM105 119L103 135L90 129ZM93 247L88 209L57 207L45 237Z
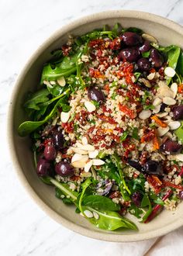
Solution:
M110 211L119 211L120 206L115 202L112 202L112 199L109 199L103 195L88 195L83 199L83 206L89 206L94 209L110 210Z

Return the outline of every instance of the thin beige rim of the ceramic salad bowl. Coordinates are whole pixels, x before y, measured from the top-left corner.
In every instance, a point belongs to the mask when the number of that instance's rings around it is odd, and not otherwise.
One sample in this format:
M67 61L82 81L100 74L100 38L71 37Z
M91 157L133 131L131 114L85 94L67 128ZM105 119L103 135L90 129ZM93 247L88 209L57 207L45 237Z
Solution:
M155 21L156 23L159 23L161 25L171 27L171 29L174 29L176 33L180 33L181 35L183 35L183 27L178 23L173 22L170 19L166 19L161 16L154 15L149 12L140 12L140 11L134 11L134 10L109 10L105 12L97 12L88 16L83 16L72 22L69 22L67 25L61 26L60 29L57 29L56 32L54 32L51 36L49 36L48 39L45 40L44 43L42 43L40 47L37 48L37 50L32 54L32 56L29 57L29 60L26 62L25 66L22 68L22 71L19 73L18 78L16 78L16 83L12 89L12 95L9 100L9 109L8 109L8 116L7 116L7 140L9 144L9 151L12 159L12 164L16 170L16 175L18 176L19 181L22 183L22 186L24 187L26 192L29 194L29 196L36 202L38 206L40 206L41 209L43 209L45 213L47 213L48 216L50 216L52 219L57 221L57 223L60 223L64 227L67 227L69 230L72 230L85 237L91 237L98 240L105 240L105 241L111 241L111 242L131 242L131 241L139 241L139 240L148 240L150 238L160 237L164 234L167 234L172 230L175 230L178 227L181 227L183 225L183 218L180 218L179 221L175 223L170 223L169 225L159 230L151 230L142 234L100 233L98 232L98 230L88 230L88 228L78 226L78 224L75 224L75 223L71 223L69 220L64 219L63 216L60 216L58 213L54 212L54 209L51 209L50 206L47 206L47 204L43 202L42 199L40 199L39 195L36 194L36 192L33 190L31 185L29 185L29 182L27 181L26 176L23 175L22 168L18 161L18 158L16 157L16 147L14 143L14 134L13 134L13 109L16 103L16 98L18 96L19 89L21 88L22 80L26 72L29 70L29 66L33 64L33 62L36 60L36 57L41 53L43 53L43 51L46 50L51 43L54 43L55 40L59 39L60 36L67 33L68 30L74 29L80 26L81 24L82 25L87 24L88 22L94 22L96 20L99 21L101 19L108 19L108 18L112 19L117 17L145 19L150 22Z

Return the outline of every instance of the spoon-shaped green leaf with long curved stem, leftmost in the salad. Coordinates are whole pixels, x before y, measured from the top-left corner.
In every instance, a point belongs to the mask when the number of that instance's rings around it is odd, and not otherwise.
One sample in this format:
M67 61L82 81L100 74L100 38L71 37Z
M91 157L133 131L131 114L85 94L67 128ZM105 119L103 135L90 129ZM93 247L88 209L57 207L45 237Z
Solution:
M70 89L67 89L67 92L69 92ZM60 102L62 100L62 97L66 94L64 92L60 96L58 96L60 99L57 101L55 104L54 108L50 111L50 113L41 121L26 121L24 123L21 123L18 129L19 135L20 136L26 136L29 133L32 133L34 130L36 130L38 127L42 126L44 123L47 123L49 119L54 116L54 113L57 111L57 107L60 106Z

